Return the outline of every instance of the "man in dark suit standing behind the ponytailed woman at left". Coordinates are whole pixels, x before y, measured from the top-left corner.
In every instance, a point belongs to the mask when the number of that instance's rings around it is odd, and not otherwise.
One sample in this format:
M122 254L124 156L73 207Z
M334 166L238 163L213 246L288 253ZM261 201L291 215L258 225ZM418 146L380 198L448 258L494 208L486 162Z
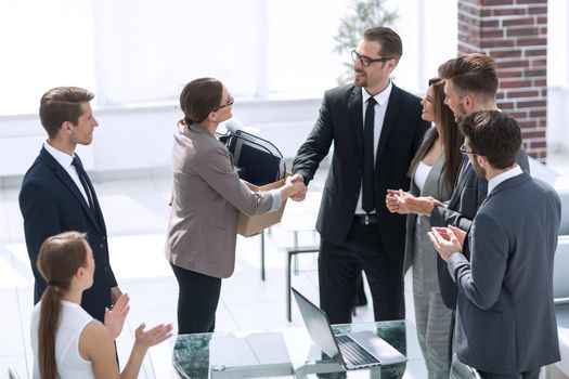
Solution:
M93 286L83 292L81 306L103 322L105 308L121 295L108 261L105 221L81 160L77 144L89 145L98 122L91 110L93 93L76 87L48 91L40 102L40 119L48 132L39 156L24 177L20 209L24 217L26 246L36 278L34 303L47 284L36 267L46 238L67 231L87 233L93 250Z

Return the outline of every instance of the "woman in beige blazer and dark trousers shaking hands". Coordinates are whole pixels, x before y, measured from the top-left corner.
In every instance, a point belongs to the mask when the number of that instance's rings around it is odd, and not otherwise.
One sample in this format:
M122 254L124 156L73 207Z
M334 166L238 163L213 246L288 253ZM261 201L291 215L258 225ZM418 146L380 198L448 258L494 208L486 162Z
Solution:
M306 187L290 179L254 193L235 172L216 130L231 118L233 97L217 79L187 83L180 95L184 118L173 135L173 195L166 257L178 279L178 332L214 331L221 279L235 267L240 211L276 210Z

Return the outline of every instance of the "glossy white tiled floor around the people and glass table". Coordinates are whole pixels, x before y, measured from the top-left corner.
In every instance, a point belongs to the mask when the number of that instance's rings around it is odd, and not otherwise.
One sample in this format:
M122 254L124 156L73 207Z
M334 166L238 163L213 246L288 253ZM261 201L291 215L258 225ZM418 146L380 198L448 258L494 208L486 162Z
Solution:
M569 177L569 158L554 156L552 167ZM322 173L311 184L312 200L289 201L286 222L271 230L267 238L267 279L260 279L259 237L238 238L235 273L223 280L221 302L217 313L217 330L270 330L301 326L296 305L293 323L285 317L285 256L282 248L293 245L290 225L305 224L315 218ZM164 258L170 179L148 177L135 180L113 180L95 183L107 223L111 258L121 289L131 297L131 311L118 341L120 361L126 362L135 327L172 323L176 326L177 284ZM24 244L22 217L16 186L0 188L0 377L9 366L23 378L30 377L29 314L31 273ZM300 235L301 244L311 244L312 233ZM313 300L318 298L315 254L299 257L300 273L293 285ZM406 280L410 284L409 277ZM411 285L406 286L411 299ZM408 317L413 319L408 301ZM370 306L360 308L355 321L372 321ZM167 349L158 347L154 349ZM164 371L169 362L153 354L146 358L141 378L154 378L153 370ZM156 358L154 358L156 356ZM158 376L159 377L159 376Z

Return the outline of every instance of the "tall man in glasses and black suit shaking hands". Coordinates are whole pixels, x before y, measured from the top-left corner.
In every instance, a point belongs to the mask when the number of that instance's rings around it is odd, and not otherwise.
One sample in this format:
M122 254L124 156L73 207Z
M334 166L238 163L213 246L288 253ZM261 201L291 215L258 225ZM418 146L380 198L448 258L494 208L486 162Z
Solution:
M293 164L294 178L308 184L334 143L316 222L320 306L333 324L351 322L362 270L375 319L405 316L405 218L389 213L383 199L387 188L409 188L409 165L429 126L421 118L419 99L389 79L401 55L393 30L366 30L352 51L354 84L324 94L320 117Z

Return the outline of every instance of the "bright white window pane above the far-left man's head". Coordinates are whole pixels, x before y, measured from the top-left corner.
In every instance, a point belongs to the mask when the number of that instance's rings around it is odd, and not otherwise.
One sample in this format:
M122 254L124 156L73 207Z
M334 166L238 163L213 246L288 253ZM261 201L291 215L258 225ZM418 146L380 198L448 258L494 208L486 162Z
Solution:
M91 1L0 3L0 114L37 113L57 86L94 88Z

